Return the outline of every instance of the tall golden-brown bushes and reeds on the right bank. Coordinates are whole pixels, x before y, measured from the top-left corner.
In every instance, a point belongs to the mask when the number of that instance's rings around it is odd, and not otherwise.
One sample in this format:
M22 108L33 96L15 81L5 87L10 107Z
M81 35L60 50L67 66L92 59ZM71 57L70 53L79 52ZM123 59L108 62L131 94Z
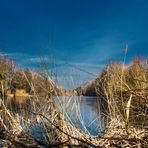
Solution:
M135 59L129 66L109 64L96 80L99 96L106 98L110 118L121 116L126 124L147 123L148 64Z

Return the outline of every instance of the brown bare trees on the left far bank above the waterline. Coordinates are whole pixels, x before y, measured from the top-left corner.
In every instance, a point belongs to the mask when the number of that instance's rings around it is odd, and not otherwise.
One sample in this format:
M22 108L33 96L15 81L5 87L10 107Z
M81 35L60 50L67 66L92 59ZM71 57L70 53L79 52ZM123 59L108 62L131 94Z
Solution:
M29 69L20 69L13 60L4 56L0 57L0 84L0 93L5 96L26 96L34 93L39 96L60 95L62 89L58 88L49 76Z

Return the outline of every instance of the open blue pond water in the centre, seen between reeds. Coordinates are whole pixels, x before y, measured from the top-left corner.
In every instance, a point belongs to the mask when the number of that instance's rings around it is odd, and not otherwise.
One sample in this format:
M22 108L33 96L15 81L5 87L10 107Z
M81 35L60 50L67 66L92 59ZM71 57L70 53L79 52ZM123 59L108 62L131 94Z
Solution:
M93 136L100 135L107 123L102 103L97 97L56 97L57 107L64 119Z

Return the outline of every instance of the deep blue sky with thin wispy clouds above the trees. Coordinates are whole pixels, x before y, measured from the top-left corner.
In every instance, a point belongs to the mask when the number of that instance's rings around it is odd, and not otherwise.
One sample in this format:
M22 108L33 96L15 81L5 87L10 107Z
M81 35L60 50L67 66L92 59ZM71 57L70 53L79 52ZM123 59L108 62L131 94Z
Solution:
M147 26L147 0L0 0L0 53L30 68L44 57L71 88L123 61L126 45L126 63L147 57Z

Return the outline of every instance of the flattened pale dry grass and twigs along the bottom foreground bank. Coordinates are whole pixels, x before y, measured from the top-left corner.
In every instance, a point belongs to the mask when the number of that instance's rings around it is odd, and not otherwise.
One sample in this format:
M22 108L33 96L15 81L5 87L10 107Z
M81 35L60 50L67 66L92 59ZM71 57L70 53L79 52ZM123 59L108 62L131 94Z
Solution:
M32 137L29 131L23 131L19 125L19 120L22 119L13 117L9 121L16 121L16 123L13 122L12 130L3 132L1 143L5 140L5 144L13 147L39 147L41 145L45 147L146 147L148 144L144 129L138 130L133 127L127 131L120 119L112 120L103 136L94 137L78 130L63 119L51 121L49 117L42 114L36 115L36 118L40 125L43 123L44 135L41 139ZM35 122L30 121L26 124L29 127ZM49 125L51 128L48 128Z

